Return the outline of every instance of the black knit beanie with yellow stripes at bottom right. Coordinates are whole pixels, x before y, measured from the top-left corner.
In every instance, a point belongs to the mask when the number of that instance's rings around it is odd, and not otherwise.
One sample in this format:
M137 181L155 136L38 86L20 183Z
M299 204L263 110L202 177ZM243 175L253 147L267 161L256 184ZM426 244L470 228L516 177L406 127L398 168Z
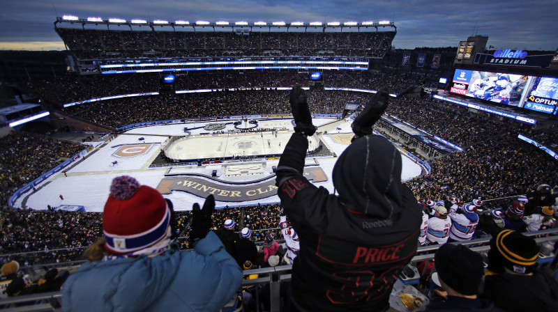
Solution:
M493 258L499 258L497 261L509 270L528 274L536 266L539 252L540 248L533 237L527 237L517 231L504 230L490 240L488 259L492 261Z

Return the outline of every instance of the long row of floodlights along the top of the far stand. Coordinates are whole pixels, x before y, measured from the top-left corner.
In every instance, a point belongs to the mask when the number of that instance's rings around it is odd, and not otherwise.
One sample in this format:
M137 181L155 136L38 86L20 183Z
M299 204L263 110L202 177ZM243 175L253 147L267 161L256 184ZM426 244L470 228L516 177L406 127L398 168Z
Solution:
M379 21L379 22L373 22L373 21L364 21L364 22L355 22L355 21L349 21L349 22L263 22L263 21L257 21L257 22L246 22L246 21L239 21L239 22L227 22L227 21L216 21L216 22L209 22L209 21L204 21L204 20L197 20L195 22L189 22L186 20L176 20L174 22L169 22L166 20L153 20L151 22L148 22L147 20L123 20L121 18L109 18L108 20L104 20L101 17L87 17L86 19L84 18L80 18L77 17L75 15L63 15L62 17L56 17L56 22L54 22L54 27L56 27L56 24L61 24L61 23L69 23L69 24L82 24L82 27L85 27L86 24L94 24L94 25L107 25L107 28L110 25L117 25L117 26L130 26L130 29L132 29L132 26L149 26L151 27L151 29L154 31L156 30L156 27L172 27L172 29L175 29L175 27L193 27L193 29L195 29L196 27L212 27L213 30L215 30L216 28L231 28L231 29L237 29L237 28L269 28L269 30L271 31L271 29L278 29L278 28L287 28L287 31L289 28L296 28L296 29L308 29L308 28L322 28L324 29L343 29L343 28L356 28L356 29L361 29L361 28L375 28L376 30L378 29L378 27L390 27L393 28L395 31L397 31L397 27L395 27L395 24L393 22L390 22L388 20L383 20L383 21Z

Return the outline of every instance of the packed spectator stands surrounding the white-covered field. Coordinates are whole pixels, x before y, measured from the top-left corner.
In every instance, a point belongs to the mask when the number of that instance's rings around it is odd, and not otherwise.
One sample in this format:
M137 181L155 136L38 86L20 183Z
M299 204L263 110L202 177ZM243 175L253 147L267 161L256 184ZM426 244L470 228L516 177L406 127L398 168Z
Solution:
M335 58L349 60L389 59L391 42L396 31L363 32L310 32L310 31L130 31L65 28L56 21L56 32L75 57L80 70L66 72L49 79L33 79L19 84L22 93L32 93L43 101L60 119L76 118L81 128L59 127L56 132L79 132L82 142L56 140L49 132L37 131L37 127L17 127L2 137L0 146L0 263L16 260L26 275L29 285L36 283L38 276L47 269L57 267L74 272L84 263L82 252L98 237L103 235L103 213L61 212L14 208L8 200L18 190L43 176L66 159L80 153L84 141L98 139L88 132L87 127L103 127L106 131L101 140L110 141L118 129L135 123L158 120L180 120L182 118L204 118L212 116L246 116L257 114L290 114L288 97L292 86L309 87L308 73L312 70L199 70L188 73L174 72L176 91L188 93L160 92L163 83L158 72L121 73L102 75L100 65L122 65L130 63L203 58L301 58L311 57L333 61ZM403 55L400 55L403 57ZM324 59L325 58L325 59ZM402 148L411 151L416 159L428 163L430 170L421 176L405 181L425 211L429 201L452 202L460 198L464 203L482 200L481 217L490 212L507 212L515 207L519 196L536 196L541 185L548 185L547 196L558 198L558 162L545 153L540 145L558 151L558 125L555 117L544 116L543 126L520 123L511 118L468 109L452 102L437 100L432 96L414 94L416 87L423 86L428 79L438 79L439 72L416 70L391 70L387 61L382 61L380 70L324 70L323 86L308 90L308 104L312 114L336 114L347 116L347 103L365 105L370 92L384 88L392 93L386 116L379 120L375 129ZM298 59L297 59L298 60ZM401 59L398 59L398 63ZM95 65L93 66L93 63ZM451 63L451 62L450 62ZM370 62L372 65L372 62ZM453 64L452 64L453 65ZM90 66L88 72L84 70ZM371 66L372 67L372 66ZM435 68L434 68L435 70ZM96 72L90 75L91 72ZM81 74L81 75L80 75ZM432 75L432 77L429 77ZM451 74L453 75L453 73ZM230 90L229 90L230 89ZM234 91L232 90L234 89ZM342 90L341 90L342 89ZM358 91L356 90L358 89ZM208 90L209 92L194 92ZM99 98L138 93L141 96ZM146 95L147 93L153 93ZM156 94L155 94L156 93ZM97 100L92 100L97 99ZM86 102L91 100L90 102ZM354 111L351 112L353 114ZM58 116L58 115L56 115ZM541 120L544 118L541 118ZM397 121L395 121L397 120ZM52 125L60 125L60 120ZM393 124L405 123L414 130L420 129L453 143L462 150L435 150L426 146L421 139L395 129ZM26 131L29 130L29 131ZM31 132L40 133L31 133ZM418 130L417 130L418 131ZM518 139L523 135L539 143L539 146ZM29 192L36 192L33 187ZM539 194L540 195L540 194ZM455 203L453 201L449 206ZM552 205L550 205L552 207ZM52 208L52 209L51 209ZM43 208L44 209L44 208ZM554 204L553 216L558 210ZM540 210L540 209L539 209ZM273 233L281 239L279 228L282 209L278 203L264 205L233 206L218 210L212 216L213 229L218 229L227 219L236 220L234 231L240 233L248 227L260 251L266 244L265 237ZM432 210L430 210L432 212ZM536 211L539 215L540 211ZM527 217L527 215L525 216ZM504 216L504 219L506 216ZM511 217L509 217L511 219ZM549 221L550 218L545 219ZM552 219L553 220L553 219ZM190 249L192 213L176 212L177 242L181 249ZM541 224L534 233L527 224L520 231L536 237L543 253L539 268L548 272L556 269L555 254L558 241L558 223ZM540 231L540 232L538 232ZM472 240L463 242L473 250L486 256L490 249L488 233L476 233ZM285 242L280 240L283 246ZM428 284L425 281L427 267L434 258L437 245L418 249L409 270L400 276L401 281L414 285L417 297L425 297ZM260 254L259 256L262 256ZM260 261L261 264L262 261ZM281 265L282 264L282 265ZM423 265L424 270L416 270ZM252 306L252 311L279 311L279 281L271 273L290 273L291 265L280 263L278 267L246 270L244 274L260 274L260 279L243 283L246 290L262 297L261 306ZM416 271L416 274L414 272ZM430 273L430 272L428 272ZM267 285L274 285L275 292L258 292ZM418 290L421 295L418 295ZM428 296L428 294L426 294ZM60 303L60 292L48 296L29 297L22 302L50 302L52 310ZM431 297L429 299L432 299ZM10 301L11 300L11 301ZM22 302L8 299L5 308L15 308ZM1 306L2 302L0 302ZM265 304L271 304L264 306ZM45 306L43 306L44 308ZM30 308L31 309L31 308Z

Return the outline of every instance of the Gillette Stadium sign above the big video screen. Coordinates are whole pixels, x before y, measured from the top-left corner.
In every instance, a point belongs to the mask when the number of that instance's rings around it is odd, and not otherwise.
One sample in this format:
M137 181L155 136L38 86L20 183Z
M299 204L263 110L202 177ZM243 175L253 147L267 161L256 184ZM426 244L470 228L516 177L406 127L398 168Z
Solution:
M474 63L547 68L553 54L529 56L523 50L496 50L493 54L477 53Z

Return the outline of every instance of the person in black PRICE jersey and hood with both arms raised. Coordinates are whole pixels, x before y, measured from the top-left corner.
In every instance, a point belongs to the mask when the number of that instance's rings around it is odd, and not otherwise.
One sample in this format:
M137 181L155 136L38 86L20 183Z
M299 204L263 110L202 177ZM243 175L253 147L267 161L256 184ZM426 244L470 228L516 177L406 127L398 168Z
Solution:
M306 94L290 94L296 126L276 185L300 253L292 268L292 311L385 311L401 270L416 253L421 209L401 183L401 155L372 134L388 102L380 91L352 125L355 139L333 169L339 196L303 176L308 136L315 133Z

